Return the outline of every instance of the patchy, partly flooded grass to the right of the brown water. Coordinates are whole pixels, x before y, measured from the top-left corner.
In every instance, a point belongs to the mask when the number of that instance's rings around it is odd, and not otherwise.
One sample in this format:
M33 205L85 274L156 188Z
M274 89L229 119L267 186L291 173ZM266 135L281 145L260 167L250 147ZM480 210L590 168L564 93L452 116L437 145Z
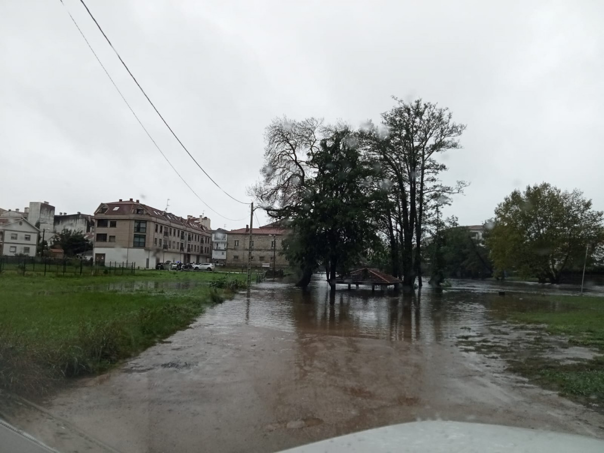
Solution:
M496 353L507 360L510 370L531 382L604 411L604 298L527 298L524 307L506 310L503 318L535 333L506 346L484 339L475 350ZM559 352L574 346L596 354L591 359L572 354L561 358Z

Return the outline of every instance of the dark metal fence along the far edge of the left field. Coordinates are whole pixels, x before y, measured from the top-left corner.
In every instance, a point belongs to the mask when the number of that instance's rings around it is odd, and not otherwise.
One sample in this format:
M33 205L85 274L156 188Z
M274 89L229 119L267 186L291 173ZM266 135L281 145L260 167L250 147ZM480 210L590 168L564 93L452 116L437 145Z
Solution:
M94 263L79 258L0 256L0 274L13 275L124 275L134 274L135 263Z

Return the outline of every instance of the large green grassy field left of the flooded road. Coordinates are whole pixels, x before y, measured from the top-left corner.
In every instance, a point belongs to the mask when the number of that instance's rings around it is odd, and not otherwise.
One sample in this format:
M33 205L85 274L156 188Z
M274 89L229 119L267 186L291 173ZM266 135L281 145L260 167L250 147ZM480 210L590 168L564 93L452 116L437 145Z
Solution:
M144 271L98 277L0 274L0 388L39 396L99 373L187 327L245 276Z

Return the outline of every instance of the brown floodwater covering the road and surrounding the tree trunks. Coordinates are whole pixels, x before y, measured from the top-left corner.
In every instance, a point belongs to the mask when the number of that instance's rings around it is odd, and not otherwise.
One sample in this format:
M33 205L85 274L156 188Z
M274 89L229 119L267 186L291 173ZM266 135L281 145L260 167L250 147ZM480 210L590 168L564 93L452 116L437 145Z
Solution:
M425 419L604 438L601 414L457 345L501 327L498 310L551 306L543 288L455 281L440 294L330 294L324 281L307 292L265 281L18 422L63 452L273 452Z

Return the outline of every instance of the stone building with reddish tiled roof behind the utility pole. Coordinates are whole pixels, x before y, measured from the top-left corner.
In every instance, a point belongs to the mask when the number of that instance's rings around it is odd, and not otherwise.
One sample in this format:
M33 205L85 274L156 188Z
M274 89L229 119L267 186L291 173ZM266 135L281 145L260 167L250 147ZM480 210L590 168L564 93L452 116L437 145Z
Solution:
M288 260L280 252L287 230L275 223L252 228L252 267L263 265L277 269L289 266ZM246 267L248 265L249 225L239 230L231 230L226 237L226 265Z

